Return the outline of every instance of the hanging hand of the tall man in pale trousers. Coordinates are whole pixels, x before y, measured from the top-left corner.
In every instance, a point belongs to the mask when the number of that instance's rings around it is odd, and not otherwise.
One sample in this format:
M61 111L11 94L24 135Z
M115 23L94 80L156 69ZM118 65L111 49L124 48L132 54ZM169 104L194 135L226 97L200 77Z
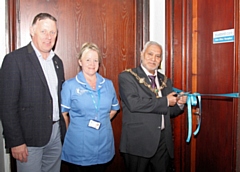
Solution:
M21 162L27 162L28 150L26 144L20 146L12 147L12 156Z

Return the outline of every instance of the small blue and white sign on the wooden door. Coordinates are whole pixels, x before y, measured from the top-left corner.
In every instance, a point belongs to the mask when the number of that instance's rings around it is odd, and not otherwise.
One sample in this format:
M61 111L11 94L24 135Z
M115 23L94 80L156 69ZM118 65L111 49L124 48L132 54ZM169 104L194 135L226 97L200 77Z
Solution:
M234 29L213 32L213 44L234 42Z

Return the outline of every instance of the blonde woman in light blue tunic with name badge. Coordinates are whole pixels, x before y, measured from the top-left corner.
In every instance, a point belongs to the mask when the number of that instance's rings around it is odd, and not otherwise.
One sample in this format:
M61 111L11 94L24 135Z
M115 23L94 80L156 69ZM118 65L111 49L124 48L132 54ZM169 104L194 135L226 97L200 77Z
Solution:
M111 119L120 106L112 81L97 72L100 62L97 45L83 44L78 59L81 71L63 84L67 133L62 160L70 171L105 171L115 154Z

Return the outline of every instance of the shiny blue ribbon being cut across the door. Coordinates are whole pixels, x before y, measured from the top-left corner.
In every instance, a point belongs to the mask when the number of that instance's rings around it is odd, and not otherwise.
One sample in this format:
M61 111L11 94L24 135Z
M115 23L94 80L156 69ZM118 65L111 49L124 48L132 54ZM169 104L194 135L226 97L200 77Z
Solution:
M173 88L173 91L176 93L184 92L180 89ZM222 96L222 97L232 97L232 98L239 98L239 93L227 93L227 94L200 94L200 93L192 93L190 94L189 92L185 92L184 95L188 96L187 98L187 109L188 109L188 136L186 142L189 142L191 139L192 135L192 106L197 105L198 101L198 106L199 106L199 121L198 121L198 127L197 129L193 132L194 135L197 135L200 126L201 126L201 113L202 113L202 106L201 106L201 96Z

